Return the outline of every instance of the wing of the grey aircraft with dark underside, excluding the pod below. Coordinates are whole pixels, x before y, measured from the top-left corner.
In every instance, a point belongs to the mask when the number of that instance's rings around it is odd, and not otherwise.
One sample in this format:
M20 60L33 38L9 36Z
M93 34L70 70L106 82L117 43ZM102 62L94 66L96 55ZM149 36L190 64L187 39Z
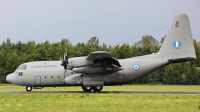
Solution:
M107 62L114 64L118 67L121 67L120 63L118 60L114 59L111 57L110 52L106 51L96 51L96 52L91 52L87 57L87 60L93 60L94 63L97 62Z

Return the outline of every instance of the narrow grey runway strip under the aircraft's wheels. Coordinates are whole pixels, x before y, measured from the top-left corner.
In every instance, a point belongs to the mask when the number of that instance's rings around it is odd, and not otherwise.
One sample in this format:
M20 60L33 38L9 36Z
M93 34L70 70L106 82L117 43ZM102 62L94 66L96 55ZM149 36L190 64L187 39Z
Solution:
M86 93L83 91L0 91L0 94L196 94L200 91L101 91Z

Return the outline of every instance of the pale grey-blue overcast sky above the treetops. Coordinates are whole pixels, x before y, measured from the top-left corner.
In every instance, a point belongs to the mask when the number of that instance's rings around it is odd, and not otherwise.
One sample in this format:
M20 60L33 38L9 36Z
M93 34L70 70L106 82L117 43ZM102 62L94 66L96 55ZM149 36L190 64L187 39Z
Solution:
M75 45L93 36L100 44L133 44L143 35L160 41L178 13L188 14L200 41L200 0L0 0L0 44L67 38Z

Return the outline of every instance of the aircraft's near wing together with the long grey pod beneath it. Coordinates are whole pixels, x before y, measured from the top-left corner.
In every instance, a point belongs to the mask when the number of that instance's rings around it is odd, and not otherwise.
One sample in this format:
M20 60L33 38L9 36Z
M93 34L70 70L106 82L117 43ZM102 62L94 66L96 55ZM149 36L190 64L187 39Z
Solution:
M119 61L111 57L110 53L106 51L91 52L87 57L84 58L88 63L83 63L74 67L74 72L82 74L96 74L116 72L123 69L121 68Z

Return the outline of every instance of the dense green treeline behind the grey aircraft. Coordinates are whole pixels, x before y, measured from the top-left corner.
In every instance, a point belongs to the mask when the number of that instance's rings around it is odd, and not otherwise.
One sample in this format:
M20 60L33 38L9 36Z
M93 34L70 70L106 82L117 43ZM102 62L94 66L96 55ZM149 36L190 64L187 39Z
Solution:
M68 52L68 57L87 56L93 51L108 51L116 59L124 59L158 52L160 44L150 35L143 36L133 45L123 44L110 46L99 44L97 37L92 37L87 43L72 45L68 39L60 42L36 43L34 41L12 43L10 39L0 45L0 83L6 83L6 75L15 71L22 63L30 61L60 60ZM194 40L197 58L200 58L200 42ZM190 61L168 65L151 73L134 84L200 84L200 61Z

